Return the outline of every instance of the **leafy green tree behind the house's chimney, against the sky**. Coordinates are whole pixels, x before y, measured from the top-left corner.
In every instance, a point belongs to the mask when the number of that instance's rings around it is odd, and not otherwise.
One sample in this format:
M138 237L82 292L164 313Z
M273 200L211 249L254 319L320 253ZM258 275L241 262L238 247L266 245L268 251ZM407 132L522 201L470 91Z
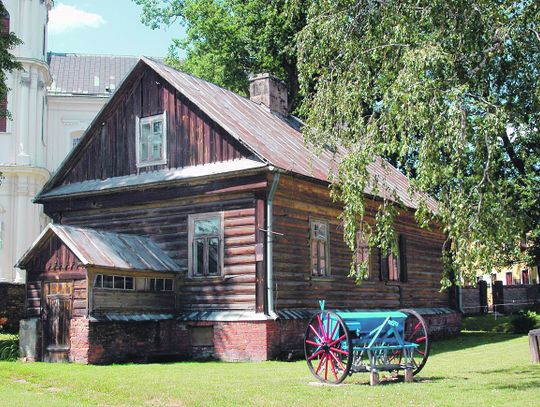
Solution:
M166 62L246 95L249 76L270 72L288 84L298 102L295 35L305 24L309 1L133 0L151 28L179 22L186 38L174 40ZM185 58L181 58L185 51Z

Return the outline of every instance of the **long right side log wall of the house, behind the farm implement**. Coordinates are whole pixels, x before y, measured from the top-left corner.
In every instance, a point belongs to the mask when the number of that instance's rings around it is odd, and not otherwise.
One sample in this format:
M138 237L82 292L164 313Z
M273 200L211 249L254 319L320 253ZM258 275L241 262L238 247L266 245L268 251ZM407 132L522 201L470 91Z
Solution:
M340 207L333 203L328 187L291 176L282 176L274 198L274 282L277 309L400 308L447 306L440 293L442 235L421 230L409 213L397 219L398 233L406 234L408 282L364 281L356 285L347 277L351 252L343 242L337 219ZM375 205L375 202L372 202ZM404 211L402 211L404 212ZM310 271L309 218L327 219L330 226L331 277L317 278ZM373 218L371 218L373 221ZM373 263L378 265L375 255ZM401 294L400 294L401 292Z

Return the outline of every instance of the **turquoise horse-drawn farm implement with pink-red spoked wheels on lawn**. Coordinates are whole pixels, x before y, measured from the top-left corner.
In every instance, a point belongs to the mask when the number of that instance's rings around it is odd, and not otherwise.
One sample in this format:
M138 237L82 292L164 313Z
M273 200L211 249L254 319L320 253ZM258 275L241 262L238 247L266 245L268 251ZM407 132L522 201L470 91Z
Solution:
M311 373L321 382L338 384L357 372L393 372L412 380L429 356L424 319L414 310L327 311L310 319L304 351ZM372 379L373 384L373 379Z

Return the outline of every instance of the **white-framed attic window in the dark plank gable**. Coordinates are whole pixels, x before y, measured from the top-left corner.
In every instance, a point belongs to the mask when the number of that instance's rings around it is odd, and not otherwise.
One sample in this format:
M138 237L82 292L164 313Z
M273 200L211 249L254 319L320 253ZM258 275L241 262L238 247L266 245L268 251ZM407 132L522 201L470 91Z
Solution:
M164 112L156 116L137 117L137 167L167 163L166 116Z

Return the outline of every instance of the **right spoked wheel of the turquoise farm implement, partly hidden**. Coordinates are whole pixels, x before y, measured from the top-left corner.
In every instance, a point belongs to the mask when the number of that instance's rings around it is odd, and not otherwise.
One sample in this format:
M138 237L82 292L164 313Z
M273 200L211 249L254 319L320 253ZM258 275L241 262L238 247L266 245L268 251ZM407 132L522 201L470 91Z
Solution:
M416 375L422 370L429 357L431 342L428 336L427 325L424 318L415 310L400 309L399 311L407 314L407 319L405 320L405 341L418 345L412 356L412 365L414 366L413 375ZM403 352L401 350L395 351L389 358L389 362L405 363Z

